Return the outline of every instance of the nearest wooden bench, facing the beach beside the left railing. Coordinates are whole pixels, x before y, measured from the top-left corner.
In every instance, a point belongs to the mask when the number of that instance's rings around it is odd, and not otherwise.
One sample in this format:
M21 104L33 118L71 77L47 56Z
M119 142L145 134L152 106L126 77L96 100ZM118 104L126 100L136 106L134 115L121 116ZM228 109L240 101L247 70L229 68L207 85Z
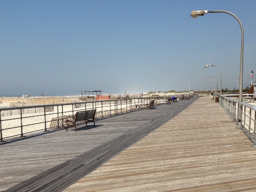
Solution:
M86 126L87 126L88 122L93 122L95 126L95 122L94 122L95 112L96 112L96 109L86 110L86 111L77 111L74 118L66 119L65 121L65 123L67 124L66 131L68 131L68 127L75 127L75 131L77 131L76 125L81 123L86 123Z

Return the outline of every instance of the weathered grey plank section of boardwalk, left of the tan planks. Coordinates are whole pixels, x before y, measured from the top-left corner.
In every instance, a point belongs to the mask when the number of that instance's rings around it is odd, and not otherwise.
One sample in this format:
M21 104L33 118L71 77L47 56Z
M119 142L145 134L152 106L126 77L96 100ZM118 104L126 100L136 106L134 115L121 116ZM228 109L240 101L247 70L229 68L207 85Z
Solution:
M108 158L104 158L105 156L100 156L100 150L107 146L108 142L112 141L112 145L114 145L115 142L119 142L119 137L129 137L132 131L141 130L143 126L146 127L145 129L148 126L150 128L152 121L157 121L157 118L169 113L173 113L174 116L175 113L181 111L182 108L188 106L194 100L180 101L173 105L156 106L154 109L143 109L104 118L96 121L96 126L78 127L77 132L70 131L73 128L70 128L68 132L62 129L45 134L35 134L32 137L13 142L3 142L0 144L0 191L9 188L8 191L18 191L18 188L20 189L19 191L28 191L29 188L37 190L41 187L46 188L46 186L50 187L49 191L53 191L53 185L60 187L57 180L63 181L63 178L61 178L63 174L70 170L73 173L73 167L69 166L70 159L73 159L71 164L76 163L74 172L81 164L87 163L91 169L84 172L86 175L86 173L100 166L101 163L108 161ZM143 137L143 135L139 135L139 137ZM132 137L131 141L133 141ZM129 143L124 144L126 146L123 148L129 147ZM132 142L130 142L130 145L132 145ZM105 148L105 150L107 149ZM121 150L119 149L119 151ZM116 153L119 151L116 149ZM115 153L111 154L115 155ZM82 159L81 162L74 161L74 159L79 160L83 156L91 158ZM53 175L51 174L52 172L57 174ZM47 175L49 177L46 177ZM83 176L83 174L77 175L78 178ZM69 182L74 182L73 178L69 178ZM37 182L34 182L34 179ZM31 183L34 186L31 186ZM69 185L68 182L66 183ZM26 189L23 188L25 186L27 186ZM67 186L65 185L64 187ZM61 191L61 189L56 189L55 191Z

